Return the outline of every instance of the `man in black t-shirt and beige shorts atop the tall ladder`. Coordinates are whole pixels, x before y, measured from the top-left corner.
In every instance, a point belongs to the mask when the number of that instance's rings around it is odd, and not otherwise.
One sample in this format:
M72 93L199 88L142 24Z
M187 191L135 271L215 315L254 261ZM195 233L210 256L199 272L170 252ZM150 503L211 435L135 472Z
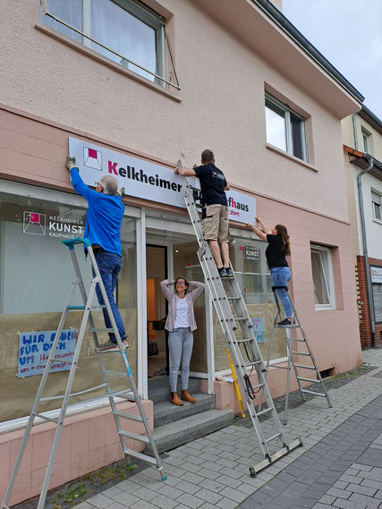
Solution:
M230 188L225 175L215 165L214 153L212 150L203 150L200 166L193 170L177 168L175 172L185 177L199 178L203 237L208 241L220 277L233 277L229 266L228 204L225 196L225 191Z

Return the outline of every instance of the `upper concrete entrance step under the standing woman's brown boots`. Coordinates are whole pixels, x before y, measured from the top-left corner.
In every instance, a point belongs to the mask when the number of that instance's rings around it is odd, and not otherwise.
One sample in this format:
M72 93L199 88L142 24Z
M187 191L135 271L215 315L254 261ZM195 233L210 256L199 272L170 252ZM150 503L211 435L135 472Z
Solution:
M169 401L156 403L154 405L154 428L157 429L160 426L169 424L170 422L175 422L175 420L181 420L185 417L190 417L191 415L215 408L214 395L193 393L192 396L196 398L196 402L183 402L183 406L175 406Z

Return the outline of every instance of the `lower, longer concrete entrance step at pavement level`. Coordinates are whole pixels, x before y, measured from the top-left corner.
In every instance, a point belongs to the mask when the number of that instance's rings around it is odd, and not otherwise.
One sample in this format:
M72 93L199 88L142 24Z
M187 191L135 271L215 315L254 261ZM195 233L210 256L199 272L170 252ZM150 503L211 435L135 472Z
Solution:
M154 438L159 453L170 451L179 445L187 444L191 440L205 437L218 429L233 423L233 410L208 410L197 415L191 415L182 420L171 422L155 429ZM146 454L152 454L150 444L146 445Z

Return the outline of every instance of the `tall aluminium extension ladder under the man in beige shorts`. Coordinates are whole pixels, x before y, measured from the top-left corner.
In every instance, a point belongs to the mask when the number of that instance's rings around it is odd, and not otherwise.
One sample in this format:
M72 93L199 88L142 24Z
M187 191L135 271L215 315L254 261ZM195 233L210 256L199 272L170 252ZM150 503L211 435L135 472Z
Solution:
M180 163L178 164L180 165ZM209 249L208 242L203 239L201 231L201 221L199 219L198 207L195 203L195 198L197 197L199 190L192 187L186 177L183 176L182 178L184 200L199 243L198 258L200 266L203 270L209 293L212 296L217 318L219 319L220 325L223 329L223 334L225 335L225 341L233 360L236 377L242 389L242 394L244 394L253 427L255 428L262 453L264 454L264 460L262 462L250 467L250 475L251 477L255 477L259 471L263 470L273 462L276 462L276 460L285 454L288 454L294 448L302 445L301 438L296 438L289 445L286 444L284 430L281 426L280 420L278 419L275 404L273 403L267 387L267 381L265 378L266 365L261 357L261 352L259 351L259 345L257 344L256 337L253 332L252 322L250 320L247 306L242 297L240 286L235 276L233 276L233 278L220 278L215 260L212 256L211 250ZM224 286L223 281L225 281L226 286ZM231 306L233 306L235 316L233 316ZM241 329L243 336L240 339L236 337L238 326L239 332ZM246 353L248 361L244 361L242 358L241 345ZM256 370L259 381L258 385L251 385L247 369L250 369L250 372L252 369ZM265 397L265 401L267 403L267 408L261 411L257 411L253 404L255 396L259 392L261 392L261 394ZM270 437L266 437L263 429L261 428L259 417L262 415L270 417L276 428L276 433ZM274 440L280 440L281 449L279 449L276 453L271 454L269 445L270 442Z

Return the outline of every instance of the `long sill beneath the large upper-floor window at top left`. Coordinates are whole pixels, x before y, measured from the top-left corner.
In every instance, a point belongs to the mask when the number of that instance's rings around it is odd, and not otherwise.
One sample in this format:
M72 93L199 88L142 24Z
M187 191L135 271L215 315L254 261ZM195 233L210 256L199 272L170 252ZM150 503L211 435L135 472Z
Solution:
M93 60L97 60L101 64L105 64L108 67L111 67L116 72L120 72L121 74L124 74L128 78L131 78L134 81L139 81L142 85L145 85L146 87L149 87L149 89L153 89L156 92L159 92L160 94L163 94L167 98L174 99L174 101L180 103L182 102L182 99L179 97L179 91L174 89L174 91L170 91L167 89L164 89L163 87L159 87L156 85L156 83L153 83L152 81L147 80L146 78L143 78L139 74L130 71L129 69L124 68L120 64L115 64L113 60L110 60L109 58L106 58L106 56L99 55L97 51L94 51L93 49L90 49L89 47L83 46L81 43L73 40L72 38L64 36L64 34L51 29L44 23L36 23L35 29L39 30L46 35L55 38L56 40L59 40L60 42L64 43L66 46L70 46L73 49L81 52L84 55L89 56L89 58L92 58Z

